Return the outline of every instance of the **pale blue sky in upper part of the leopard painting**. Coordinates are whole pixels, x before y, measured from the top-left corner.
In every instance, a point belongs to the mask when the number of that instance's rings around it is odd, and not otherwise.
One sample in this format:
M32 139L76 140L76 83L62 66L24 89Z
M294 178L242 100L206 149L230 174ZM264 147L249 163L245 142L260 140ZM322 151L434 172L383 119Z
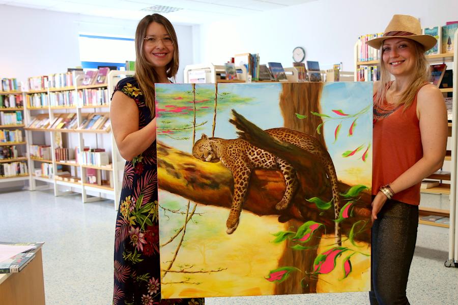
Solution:
M160 85L158 88L165 89L167 93L181 92L186 94L192 90L190 84L174 84ZM196 92L199 89L208 88L214 90L214 84L197 84ZM218 84L218 93L231 93L233 96L248 97L249 102L234 103L231 107L220 109L218 107L216 118L215 137L224 139L234 139L237 137L236 128L229 123L231 117L231 109L245 116L253 124L262 129L269 129L283 126L283 118L278 106L279 95L281 92L280 83L220 83ZM169 104L170 101L161 101L160 93L157 94L159 107L162 103ZM196 98L197 99L197 98ZM359 116L356 121L353 136L348 136L349 128L354 118L346 118L332 112L332 110L342 110L342 112L353 115L368 105L372 104L372 83L370 82L335 82L324 83L321 96L322 113L331 116L331 119L326 121L323 132L326 145L334 161L337 175L339 179L350 183L363 183L370 187L371 181L371 147L367 162L362 162L361 156L364 153L367 145L372 141L372 108ZM311 114L306 114L311 115ZM183 118L180 114L176 116L177 121ZM158 118L160 124L160 117ZM208 124L197 128L196 140L199 139L202 133L209 136L212 134L213 114L208 111L204 117L199 117L199 120L208 120ZM189 118L187 118L187 123ZM198 121L197 121L198 123ZM337 140L334 141L334 131L337 125L341 123L341 129ZM160 137L159 140L167 145L174 146L180 150L191 152L192 140L174 140L168 137ZM358 146L363 145L363 148L352 157L342 158L342 153L347 150L354 150Z

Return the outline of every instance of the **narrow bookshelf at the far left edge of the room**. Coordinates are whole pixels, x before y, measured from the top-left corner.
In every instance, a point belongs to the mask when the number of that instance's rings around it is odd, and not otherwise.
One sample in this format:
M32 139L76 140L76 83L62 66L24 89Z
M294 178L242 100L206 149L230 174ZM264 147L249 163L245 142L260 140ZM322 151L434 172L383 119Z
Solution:
M28 147L23 131L24 120L24 93L20 90L16 79L2 79L0 86L0 130L2 130L0 183L24 180L30 182ZM13 134L16 134L13 141L5 137ZM17 170L18 165L19 171Z

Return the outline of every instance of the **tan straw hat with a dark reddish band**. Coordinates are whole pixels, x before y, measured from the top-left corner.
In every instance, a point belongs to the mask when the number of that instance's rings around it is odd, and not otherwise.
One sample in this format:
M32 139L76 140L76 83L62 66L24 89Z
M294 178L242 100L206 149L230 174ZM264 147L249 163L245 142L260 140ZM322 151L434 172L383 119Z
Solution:
M380 49L383 41L388 38L408 38L423 45L427 51L437 43L436 38L431 35L421 35L421 25L417 18L408 15L394 15L388 26L385 28L383 37L372 39L366 43L376 49Z

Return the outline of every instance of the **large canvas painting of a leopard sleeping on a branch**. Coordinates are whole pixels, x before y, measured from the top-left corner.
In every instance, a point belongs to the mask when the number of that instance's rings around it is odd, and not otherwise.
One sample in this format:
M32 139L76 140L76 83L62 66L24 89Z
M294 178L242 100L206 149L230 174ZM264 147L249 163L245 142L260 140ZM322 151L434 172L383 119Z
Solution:
M156 85L162 297L368 291L371 92Z

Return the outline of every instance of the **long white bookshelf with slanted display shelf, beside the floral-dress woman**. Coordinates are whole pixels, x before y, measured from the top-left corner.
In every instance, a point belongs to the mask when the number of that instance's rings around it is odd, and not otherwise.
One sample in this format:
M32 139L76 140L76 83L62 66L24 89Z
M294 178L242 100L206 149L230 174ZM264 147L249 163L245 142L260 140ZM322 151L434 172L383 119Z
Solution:
M115 209L118 207L121 182L115 181L120 179L118 166L121 166L122 170L124 165L121 165L122 161L118 161L121 157L110 131L109 93L112 92L121 77L133 75L132 71L120 72L122 74L118 71L111 71L108 74L108 82L104 84L78 85L81 83L80 75L73 74L71 86L55 88L51 87L49 82L46 89L29 90L24 93L24 116L25 126L27 126L24 129L27 140L22 144L27 144L28 148L40 144L50 147L50 158L28 158L31 169L30 190L50 187L54 190L55 196L80 193L82 202L111 197L115 201ZM112 75L116 77L113 78ZM91 128L89 128L90 124ZM78 159L75 159L77 148L78 151L81 151L83 150L81 147L88 146L91 149L104 148L105 153L111 157L111 163L93 165L91 161L94 159L85 159L87 162L82 162L83 154L78 154ZM73 151L74 156L72 156ZM91 153L84 152L85 156L88 154ZM46 164L45 167L42 164ZM48 169L47 166L50 167L51 175L43 171L35 172L40 167ZM62 170L58 171L59 169ZM60 175L62 171L68 173ZM89 172L91 175L94 174L92 178ZM92 179L91 182L95 184L89 183L87 179ZM45 184L39 185L38 181L45 182Z

